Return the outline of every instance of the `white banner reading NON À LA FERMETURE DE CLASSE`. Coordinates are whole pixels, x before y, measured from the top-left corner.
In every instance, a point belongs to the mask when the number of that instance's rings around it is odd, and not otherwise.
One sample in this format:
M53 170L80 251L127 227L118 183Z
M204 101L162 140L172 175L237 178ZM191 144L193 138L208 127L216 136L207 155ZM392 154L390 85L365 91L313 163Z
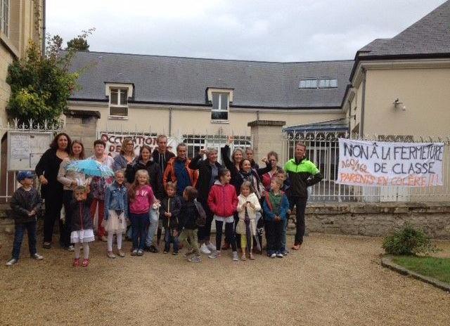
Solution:
M336 183L345 185L442 185L444 143L386 143L339 139Z

